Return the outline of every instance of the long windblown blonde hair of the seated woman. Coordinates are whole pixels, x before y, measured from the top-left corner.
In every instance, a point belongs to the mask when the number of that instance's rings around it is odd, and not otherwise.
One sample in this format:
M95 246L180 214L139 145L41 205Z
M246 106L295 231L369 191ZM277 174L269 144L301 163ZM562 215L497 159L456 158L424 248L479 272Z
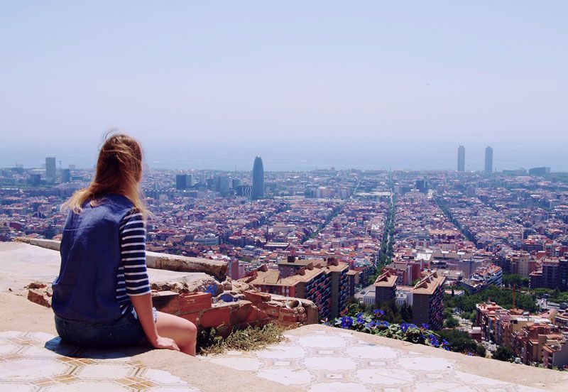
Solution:
M139 190L142 178L140 143L129 135L112 134L112 131L108 132L104 139L94 179L88 187L77 190L63 203L61 209L70 209L80 214L85 202L89 201L90 205L95 207L101 204L104 195L119 193L128 197L134 208L146 219L148 211Z

